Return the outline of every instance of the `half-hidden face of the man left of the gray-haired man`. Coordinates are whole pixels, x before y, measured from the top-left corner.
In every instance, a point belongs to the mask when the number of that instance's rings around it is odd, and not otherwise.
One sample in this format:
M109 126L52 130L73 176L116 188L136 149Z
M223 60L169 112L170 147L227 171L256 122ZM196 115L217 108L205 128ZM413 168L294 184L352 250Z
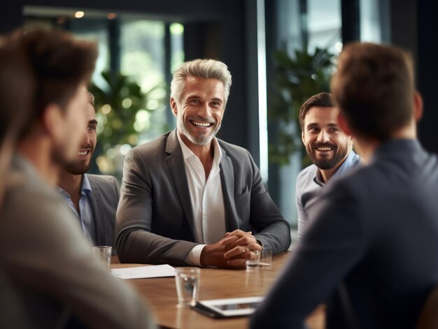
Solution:
M87 173L90 168L91 157L96 147L96 112L91 103L87 104L87 133L83 137L80 148L77 152L77 159L66 165L66 171L73 175Z

